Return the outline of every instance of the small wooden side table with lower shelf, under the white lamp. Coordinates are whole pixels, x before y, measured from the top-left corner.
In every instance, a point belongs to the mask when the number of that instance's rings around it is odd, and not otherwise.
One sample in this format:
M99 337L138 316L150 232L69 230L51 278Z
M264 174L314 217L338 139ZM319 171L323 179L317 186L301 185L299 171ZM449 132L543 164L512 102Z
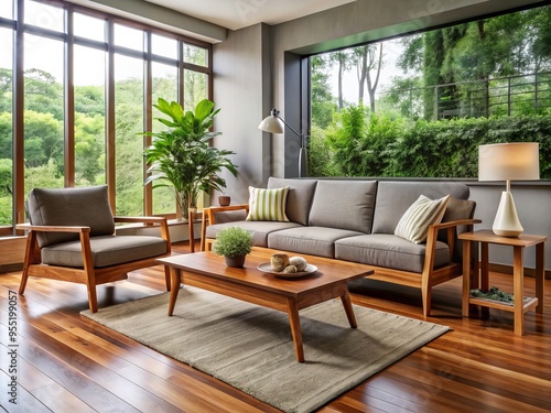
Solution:
M547 237L520 235L515 238L496 236L491 230L464 232L458 236L463 240L463 316L468 317L468 307L476 304L489 308L499 308L515 313L515 334L525 334L525 313L536 308L543 313L543 285L544 285L544 244ZM471 273L471 242L480 243L480 274L479 287L487 291L489 287L488 274L488 246L490 243L512 247L512 294L515 304L507 305L499 302L471 297L472 283L476 283ZM536 246L536 297L525 297L525 268L523 252L526 247ZM519 300L520 298L520 300Z

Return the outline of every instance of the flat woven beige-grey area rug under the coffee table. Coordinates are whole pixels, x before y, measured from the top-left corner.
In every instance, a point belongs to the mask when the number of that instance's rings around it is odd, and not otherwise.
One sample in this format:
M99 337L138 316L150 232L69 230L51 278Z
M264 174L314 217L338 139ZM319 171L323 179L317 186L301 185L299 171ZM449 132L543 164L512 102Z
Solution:
M450 329L339 300L300 312L304 363L287 313L185 286L82 315L181 360L284 412L311 412Z

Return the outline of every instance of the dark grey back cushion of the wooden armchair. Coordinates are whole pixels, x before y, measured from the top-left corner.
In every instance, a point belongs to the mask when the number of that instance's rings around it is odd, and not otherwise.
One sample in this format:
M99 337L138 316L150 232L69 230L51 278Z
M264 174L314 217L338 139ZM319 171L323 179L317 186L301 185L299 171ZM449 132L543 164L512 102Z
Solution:
M107 185L34 188L29 193L29 220L42 226L90 227L90 237L115 232ZM78 240L76 232L39 232L39 246Z

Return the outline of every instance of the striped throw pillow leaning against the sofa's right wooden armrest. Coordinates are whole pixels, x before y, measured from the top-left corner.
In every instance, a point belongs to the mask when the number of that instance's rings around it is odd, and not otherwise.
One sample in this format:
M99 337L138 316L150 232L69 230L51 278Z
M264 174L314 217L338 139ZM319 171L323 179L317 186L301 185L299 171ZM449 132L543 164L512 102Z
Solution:
M414 243L423 242L429 233L429 226L442 221L449 199L450 195L434 200L421 195L402 215L395 235Z

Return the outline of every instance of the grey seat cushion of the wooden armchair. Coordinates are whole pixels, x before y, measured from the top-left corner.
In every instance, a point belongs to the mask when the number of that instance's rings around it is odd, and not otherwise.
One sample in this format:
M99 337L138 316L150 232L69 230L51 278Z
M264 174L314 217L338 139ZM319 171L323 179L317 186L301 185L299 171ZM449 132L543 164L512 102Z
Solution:
M104 236L90 238L94 268L104 268L166 253L166 241L150 236ZM84 268L80 241L43 248L42 262L48 265Z

